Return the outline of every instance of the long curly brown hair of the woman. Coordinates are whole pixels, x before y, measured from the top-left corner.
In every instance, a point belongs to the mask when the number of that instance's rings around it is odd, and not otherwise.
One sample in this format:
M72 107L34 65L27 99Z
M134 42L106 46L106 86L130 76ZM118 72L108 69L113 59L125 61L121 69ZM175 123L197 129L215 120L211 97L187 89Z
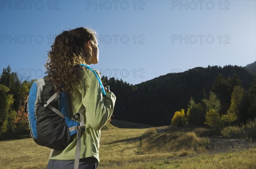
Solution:
M96 44L96 32L83 27L64 31L55 38L45 64L55 90L70 92L73 85L79 84L83 69L80 64L90 65L92 58L92 50L84 47L89 40Z

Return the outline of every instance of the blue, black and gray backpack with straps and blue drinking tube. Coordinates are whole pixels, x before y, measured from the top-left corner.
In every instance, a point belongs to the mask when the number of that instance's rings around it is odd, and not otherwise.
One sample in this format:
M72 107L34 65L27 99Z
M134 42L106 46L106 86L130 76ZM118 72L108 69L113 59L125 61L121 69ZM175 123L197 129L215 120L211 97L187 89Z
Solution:
M104 97L104 87L98 75L88 65L81 64L93 71L98 79ZM70 118L70 101L68 93L55 92L48 76L33 82L27 99L27 112L30 134L38 145L50 149L63 150L72 141L71 136L77 134L75 168L79 166L81 132L84 130L84 116L81 108ZM80 117L80 122L76 121Z

